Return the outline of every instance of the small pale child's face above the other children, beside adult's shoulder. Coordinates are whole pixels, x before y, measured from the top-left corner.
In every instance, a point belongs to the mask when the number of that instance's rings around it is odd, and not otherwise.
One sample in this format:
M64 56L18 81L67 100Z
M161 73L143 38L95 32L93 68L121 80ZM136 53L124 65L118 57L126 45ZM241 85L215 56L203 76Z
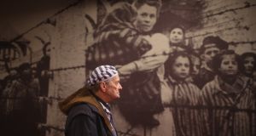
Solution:
M172 29L172 31L170 32L169 38L170 38L170 42L172 43L183 42L184 40L183 30L181 28Z

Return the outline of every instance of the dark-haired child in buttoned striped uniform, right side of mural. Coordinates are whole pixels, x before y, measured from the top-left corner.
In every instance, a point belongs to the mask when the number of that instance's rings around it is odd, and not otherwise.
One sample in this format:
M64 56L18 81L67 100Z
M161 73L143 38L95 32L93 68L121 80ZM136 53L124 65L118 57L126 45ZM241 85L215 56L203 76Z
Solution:
M207 135L255 135L252 81L238 72L240 58L226 50L213 59L217 76L202 88L201 104ZM253 112L254 111L254 112Z

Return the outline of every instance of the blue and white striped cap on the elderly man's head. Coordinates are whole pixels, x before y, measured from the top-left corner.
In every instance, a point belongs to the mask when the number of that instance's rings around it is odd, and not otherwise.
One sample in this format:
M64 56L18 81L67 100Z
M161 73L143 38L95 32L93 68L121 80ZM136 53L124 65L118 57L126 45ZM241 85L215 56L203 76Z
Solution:
M87 83L90 86L93 86L98 82L106 81L112 77L117 76L118 74L119 73L114 66L101 65L101 66L96 67L96 69L91 72Z

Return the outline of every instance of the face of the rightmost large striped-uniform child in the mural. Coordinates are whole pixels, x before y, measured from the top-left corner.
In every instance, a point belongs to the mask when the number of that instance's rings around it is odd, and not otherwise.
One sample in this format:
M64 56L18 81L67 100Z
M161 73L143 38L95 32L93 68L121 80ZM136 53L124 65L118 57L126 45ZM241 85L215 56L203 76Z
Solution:
M218 68L223 75L236 76L238 72L238 65L236 62L236 56L234 54L225 54Z

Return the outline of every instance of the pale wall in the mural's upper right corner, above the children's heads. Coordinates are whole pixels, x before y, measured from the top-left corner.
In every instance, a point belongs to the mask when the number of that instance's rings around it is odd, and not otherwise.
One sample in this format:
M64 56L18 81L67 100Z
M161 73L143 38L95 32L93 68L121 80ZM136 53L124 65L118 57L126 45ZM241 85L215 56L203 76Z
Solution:
M193 37L195 43L200 45L203 37L217 35L234 42L238 54L255 50L254 7L253 1L208 1L202 15L202 28L192 30L188 37Z

